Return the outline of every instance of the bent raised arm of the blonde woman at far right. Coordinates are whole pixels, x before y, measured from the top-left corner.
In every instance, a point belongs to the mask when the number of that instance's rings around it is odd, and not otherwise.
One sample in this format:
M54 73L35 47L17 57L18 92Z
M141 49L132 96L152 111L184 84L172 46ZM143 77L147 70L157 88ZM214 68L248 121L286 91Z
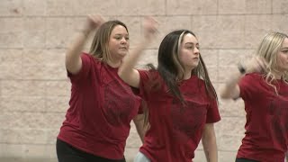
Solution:
M266 69L266 62L263 58L251 58L244 64L238 64L238 70L229 75L229 79L220 90L220 97L223 99L237 99L240 95L238 82L246 73L263 72Z

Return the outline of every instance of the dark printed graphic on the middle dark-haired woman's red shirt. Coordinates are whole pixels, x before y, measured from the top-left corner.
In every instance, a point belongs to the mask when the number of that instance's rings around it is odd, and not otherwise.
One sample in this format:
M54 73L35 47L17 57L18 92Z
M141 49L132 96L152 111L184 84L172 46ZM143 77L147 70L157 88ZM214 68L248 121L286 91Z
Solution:
M171 116L174 128L174 139L186 143L202 129L206 121L207 104L202 103L200 96L191 96L194 101L188 100L185 105L173 101Z

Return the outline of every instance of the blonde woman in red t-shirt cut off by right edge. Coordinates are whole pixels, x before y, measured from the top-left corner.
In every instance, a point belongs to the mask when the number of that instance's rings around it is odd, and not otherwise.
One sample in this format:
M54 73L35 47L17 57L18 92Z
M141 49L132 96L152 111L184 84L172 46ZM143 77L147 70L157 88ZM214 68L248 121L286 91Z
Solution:
M288 37L266 34L255 58L238 64L221 97L245 102L245 137L237 162L284 162L288 144Z

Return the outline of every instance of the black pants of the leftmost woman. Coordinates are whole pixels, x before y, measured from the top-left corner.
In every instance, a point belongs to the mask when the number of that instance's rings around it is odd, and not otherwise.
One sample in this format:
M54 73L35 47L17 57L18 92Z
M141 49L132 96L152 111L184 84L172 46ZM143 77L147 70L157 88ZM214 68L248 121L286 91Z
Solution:
M56 149L58 162L126 162L125 157L119 160L96 157L74 148L60 139L57 139Z

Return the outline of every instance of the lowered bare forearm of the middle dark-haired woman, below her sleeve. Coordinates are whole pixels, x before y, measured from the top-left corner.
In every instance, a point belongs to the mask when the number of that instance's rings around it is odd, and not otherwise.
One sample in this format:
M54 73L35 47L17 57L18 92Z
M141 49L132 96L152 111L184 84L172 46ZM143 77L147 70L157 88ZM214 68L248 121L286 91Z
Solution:
M206 123L202 133L202 145L207 162L218 162L218 150L213 123Z

